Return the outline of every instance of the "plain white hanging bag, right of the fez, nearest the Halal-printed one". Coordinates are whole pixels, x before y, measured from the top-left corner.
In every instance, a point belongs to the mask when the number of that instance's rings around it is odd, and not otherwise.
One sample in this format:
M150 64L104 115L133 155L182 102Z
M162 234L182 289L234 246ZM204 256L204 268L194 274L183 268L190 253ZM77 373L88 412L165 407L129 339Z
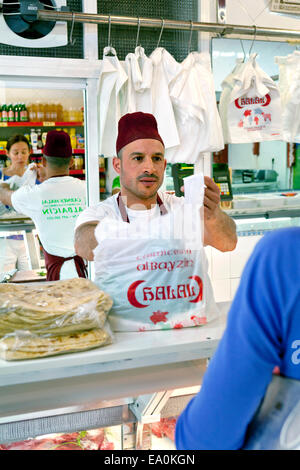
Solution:
M168 163L196 163L203 152L224 148L210 57L191 52L169 83L180 145L167 149Z

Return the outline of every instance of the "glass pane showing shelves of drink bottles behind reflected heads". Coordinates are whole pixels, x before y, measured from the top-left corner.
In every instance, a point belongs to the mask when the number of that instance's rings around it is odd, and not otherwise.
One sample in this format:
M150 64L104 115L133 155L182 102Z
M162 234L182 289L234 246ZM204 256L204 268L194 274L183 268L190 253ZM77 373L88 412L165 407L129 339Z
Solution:
M40 162L47 132L64 130L71 139L74 164L70 172L83 178L84 96L82 90L0 88L0 165L10 165L6 143L15 134L27 137L30 162Z

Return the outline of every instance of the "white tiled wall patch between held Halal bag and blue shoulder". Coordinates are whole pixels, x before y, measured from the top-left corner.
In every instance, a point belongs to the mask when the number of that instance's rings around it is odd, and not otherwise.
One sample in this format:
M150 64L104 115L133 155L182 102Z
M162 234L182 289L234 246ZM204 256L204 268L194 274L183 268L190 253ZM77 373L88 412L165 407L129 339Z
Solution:
M261 235L238 237L235 250L226 253L209 246L205 248L216 302L233 299L247 259L260 238Z

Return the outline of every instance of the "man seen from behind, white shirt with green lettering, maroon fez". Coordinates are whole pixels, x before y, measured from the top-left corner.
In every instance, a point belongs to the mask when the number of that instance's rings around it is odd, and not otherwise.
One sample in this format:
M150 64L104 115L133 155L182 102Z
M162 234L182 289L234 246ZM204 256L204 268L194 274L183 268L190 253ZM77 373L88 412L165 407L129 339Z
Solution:
M73 163L69 135L48 132L43 154L43 167L37 171L44 181L16 191L1 188L0 201L33 220L44 249L47 280L87 277L73 243L75 221L86 206L86 188L84 181L69 176Z

